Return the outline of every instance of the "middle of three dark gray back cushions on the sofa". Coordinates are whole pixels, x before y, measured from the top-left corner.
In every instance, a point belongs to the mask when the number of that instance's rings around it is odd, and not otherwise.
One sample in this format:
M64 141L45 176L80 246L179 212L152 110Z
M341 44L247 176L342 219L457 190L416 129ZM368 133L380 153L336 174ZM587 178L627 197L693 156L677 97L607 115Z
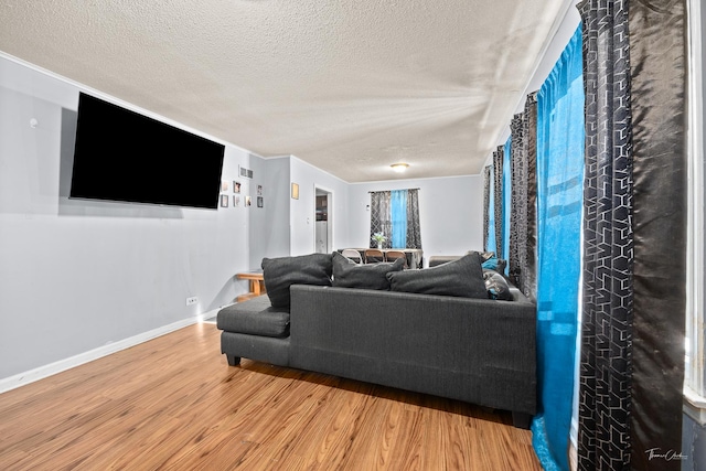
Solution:
M333 254L333 286L338 288L362 288L389 290L387 274L400 271L405 259L394 263L360 265L339 253Z

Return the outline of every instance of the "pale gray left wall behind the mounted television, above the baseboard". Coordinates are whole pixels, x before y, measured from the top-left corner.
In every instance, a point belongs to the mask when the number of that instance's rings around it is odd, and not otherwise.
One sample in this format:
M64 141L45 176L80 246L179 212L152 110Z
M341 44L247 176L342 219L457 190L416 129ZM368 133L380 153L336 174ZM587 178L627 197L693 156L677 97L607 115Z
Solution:
M0 57L0 379L247 290L247 212L67 200L78 92ZM226 146L224 180L249 159Z

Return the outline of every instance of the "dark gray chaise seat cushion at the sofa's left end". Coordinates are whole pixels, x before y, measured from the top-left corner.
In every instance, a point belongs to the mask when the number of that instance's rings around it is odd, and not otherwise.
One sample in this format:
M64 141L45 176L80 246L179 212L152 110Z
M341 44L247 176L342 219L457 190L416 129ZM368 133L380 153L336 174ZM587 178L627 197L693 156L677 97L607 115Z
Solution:
M221 309L216 325L226 332L285 338L289 335L289 312L272 308L267 297L260 296Z

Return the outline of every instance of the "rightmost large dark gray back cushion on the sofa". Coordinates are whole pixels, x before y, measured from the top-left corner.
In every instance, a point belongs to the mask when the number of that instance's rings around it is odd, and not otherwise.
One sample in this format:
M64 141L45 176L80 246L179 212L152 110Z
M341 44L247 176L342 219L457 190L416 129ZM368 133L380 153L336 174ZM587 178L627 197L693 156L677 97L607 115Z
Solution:
M387 279L393 291L488 299L481 258L475 251L432 268L389 272Z

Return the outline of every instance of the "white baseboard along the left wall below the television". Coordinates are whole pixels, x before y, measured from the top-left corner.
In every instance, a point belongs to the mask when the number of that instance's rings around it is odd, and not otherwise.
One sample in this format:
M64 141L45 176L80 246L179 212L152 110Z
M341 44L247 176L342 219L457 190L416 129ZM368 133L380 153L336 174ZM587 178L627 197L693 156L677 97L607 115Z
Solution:
M169 325L164 325L148 332L130 336L128 339L109 343L107 345L89 350L88 352L79 353L78 355L74 355L65 360L60 360L58 362L50 363L49 365L43 365L38 368L17 374L14 376L2 378L0 379L0 394L30 383L34 383L35 381L43 379L45 377L55 375L56 373L64 372L78 365L83 365L84 363L93 362L94 360L98 360L111 353L119 352L120 350L129 349L130 346L135 346L142 342L147 342L148 340L152 340L175 330L183 329L188 325L195 324L197 322L201 322L203 319L207 319L208 314L210 312L204 312L203 314L195 318L184 319L183 321L178 321Z

